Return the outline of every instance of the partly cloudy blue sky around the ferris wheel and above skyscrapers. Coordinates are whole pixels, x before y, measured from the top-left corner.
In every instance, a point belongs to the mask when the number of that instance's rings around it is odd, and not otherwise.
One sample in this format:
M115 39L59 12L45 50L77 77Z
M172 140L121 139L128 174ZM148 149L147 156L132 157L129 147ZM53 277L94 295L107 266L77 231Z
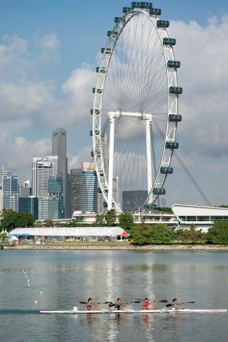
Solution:
M113 27L114 16L121 14L127 3L97 1L90 5L78 3L76 8L75 3L69 1L60 24L58 15L64 7L61 3L54 8L53 1L48 4L41 1L40 8L31 8L29 1L22 2L27 11L23 12L16 1L1 1L0 160L25 181L31 157L51 155L53 120L55 127L64 126L68 131L68 170L88 160L94 68L99 49L106 40L106 31ZM162 17L171 21L168 31L177 38L176 54L181 60L179 82L184 94L180 112L184 120L178 131L179 155L211 202L226 204L227 84L223 75L227 73L227 47L223 42L228 27L228 5L225 1L192 1L184 6L181 1L172 4L154 1L154 5L162 7ZM105 16L99 13L99 6ZM48 21L42 17L42 12L50 13L53 8L56 18ZM101 25L95 34L94 21L88 21L88 27L78 34L83 10L88 18L100 19ZM14 23L18 13L24 20ZM4 14L12 20L6 21ZM91 40L92 34L94 39ZM77 51L70 50L73 42L77 42ZM168 205L173 202L204 204L175 160L173 166L175 173L166 184ZM220 183L214 182L214 177L219 178Z

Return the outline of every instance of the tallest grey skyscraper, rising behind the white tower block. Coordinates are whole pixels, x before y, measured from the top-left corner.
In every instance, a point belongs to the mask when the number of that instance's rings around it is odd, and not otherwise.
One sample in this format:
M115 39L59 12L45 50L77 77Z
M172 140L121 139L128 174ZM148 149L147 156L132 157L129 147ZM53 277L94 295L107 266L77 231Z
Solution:
M67 158L66 158L66 129L58 128L52 132L52 154L58 156L58 174L62 175L62 190L64 198L64 217L69 206L66 200ZM71 211L71 209L70 209Z

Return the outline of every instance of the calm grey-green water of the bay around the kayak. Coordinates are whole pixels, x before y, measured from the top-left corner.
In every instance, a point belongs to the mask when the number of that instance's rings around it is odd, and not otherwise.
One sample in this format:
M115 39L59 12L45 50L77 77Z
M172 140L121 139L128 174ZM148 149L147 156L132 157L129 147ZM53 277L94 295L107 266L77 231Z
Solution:
M196 302L188 308L228 308L227 257L228 252L0 251L0 341L227 341L226 313L38 312L84 308L79 300L90 296L104 302L177 297Z

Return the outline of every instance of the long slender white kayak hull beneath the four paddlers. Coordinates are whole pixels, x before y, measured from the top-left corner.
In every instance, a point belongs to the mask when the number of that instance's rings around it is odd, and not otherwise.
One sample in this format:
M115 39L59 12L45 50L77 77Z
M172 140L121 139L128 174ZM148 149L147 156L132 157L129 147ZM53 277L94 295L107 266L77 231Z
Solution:
M211 309L211 308L197 308L197 309L190 309L190 308L184 308L181 310L91 310L91 311L80 311L80 310L67 310L67 311L60 311L60 310L50 310L50 311L40 311L40 313L46 313L46 314L86 314L86 315L97 315L97 314L116 314L116 313L227 313L227 309Z

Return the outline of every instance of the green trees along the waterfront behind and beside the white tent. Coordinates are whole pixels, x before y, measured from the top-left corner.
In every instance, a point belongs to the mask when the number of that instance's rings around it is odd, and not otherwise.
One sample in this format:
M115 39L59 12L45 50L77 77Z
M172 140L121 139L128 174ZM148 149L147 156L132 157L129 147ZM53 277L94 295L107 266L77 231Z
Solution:
M16 213L11 209L4 210L0 218L1 231L7 230L8 233L14 228L25 228L32 226L56 226L52 220L38 222L34 215L30 213ZM88 226L71 220L67 224L58 224L58 226ZM190 230L174 230L166 224L134 224L131 213L116 214L114 209L105 213L97 214L96 220L92 226L121 226L129 233L131 244L149 245L149 244L228 244L228 220L218 220L214 222L212 228L207 233L197 231L194 225ZM0 234L0 240L5 239L6 235Z

